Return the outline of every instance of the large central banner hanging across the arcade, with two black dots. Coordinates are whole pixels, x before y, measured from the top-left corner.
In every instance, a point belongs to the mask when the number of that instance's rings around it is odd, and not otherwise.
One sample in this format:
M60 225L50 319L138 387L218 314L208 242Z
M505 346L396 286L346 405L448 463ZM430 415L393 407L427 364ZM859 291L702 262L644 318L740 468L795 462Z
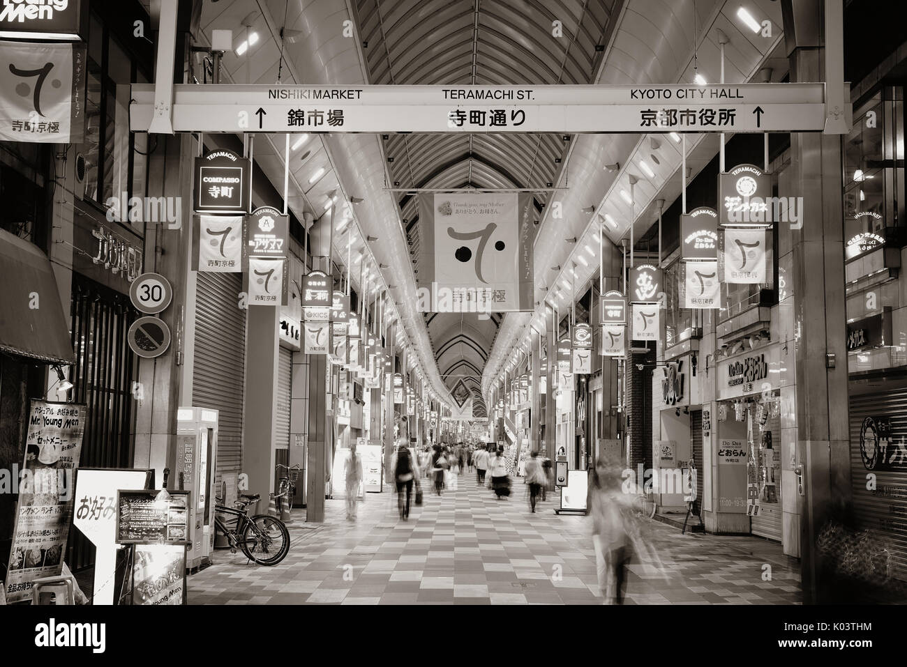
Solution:
M535 226L529 194L424 195L419 212L424 247L419 312L533 310Z

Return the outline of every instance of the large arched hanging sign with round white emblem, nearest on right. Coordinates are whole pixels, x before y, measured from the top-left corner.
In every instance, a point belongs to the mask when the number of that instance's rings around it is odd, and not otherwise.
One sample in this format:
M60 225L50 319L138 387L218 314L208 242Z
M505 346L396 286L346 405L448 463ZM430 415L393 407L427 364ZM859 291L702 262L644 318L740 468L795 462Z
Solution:
M752 164L718 174L718 223L771 227L774 222L772 177Z

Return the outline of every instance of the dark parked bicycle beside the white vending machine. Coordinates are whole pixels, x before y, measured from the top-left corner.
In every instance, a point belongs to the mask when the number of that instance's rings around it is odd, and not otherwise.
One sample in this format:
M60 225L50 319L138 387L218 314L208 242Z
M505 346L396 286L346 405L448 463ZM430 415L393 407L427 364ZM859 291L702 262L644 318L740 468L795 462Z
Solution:
M258 565L277 565L289 553L289 531L283 521L267 514L249 517L249 505L257 502L258 498L261 496L257 493L242 493L236 501L237 507L215 505L215 536L219 532L227 537L231 554L235 554L239 547L249 560ZM225 521L223 515L235 517L236 525L228 525L227 521L232 523L233 518Z

